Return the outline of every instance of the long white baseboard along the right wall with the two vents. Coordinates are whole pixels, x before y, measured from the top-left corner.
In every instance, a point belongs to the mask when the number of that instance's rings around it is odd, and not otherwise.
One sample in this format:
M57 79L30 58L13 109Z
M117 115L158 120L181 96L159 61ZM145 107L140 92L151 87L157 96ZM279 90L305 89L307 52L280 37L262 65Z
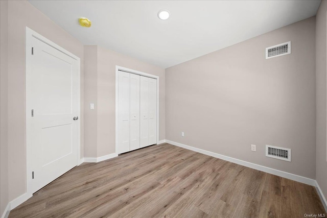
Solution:
M291 180L301 182L301 183L305 183L305 184L312 185L312 186L316 185L316 180L313 180L313 179L309 179L309 178L306 178L306 177L302 177L302 176L298 176L298 175L295 175L295 174L287 173L287 172L284 172L284 171L279 171L278 169L273 169L273 168L269 168L267 166L262 166L262 165L259 165L259 164L250 163L250 162L247 162L247 161L244 161L244 160L239 160L239 159L236 159L236 158L228 157L228 156L217 154L217 153L214 153L214 152L205 151L205 150L194 148L194 147L191 147L191 146L186 146L185 144L181 144L181 143L178 143L178 142L175 142L175 141L166 140L166 142L170 143L170 144L173 144L174 146L178 146L178 147L181 147L181 148L184 148L184 149L192 150L192 151L195 151L195 152L198 152L198 153L201 153L201 154L209 155L209 156L216 157L216 158L219 158L219 159L222 159L222 160L227 160L229 162L237 163L237 164L240 164L242 166L247 166L247 167L250 167L250 168L253 168L253 169L258 169L259 171L263 171L263 172L266 172L266 173L269 173L269 174L284 177L284 178L287 178L287 179L291 179Z

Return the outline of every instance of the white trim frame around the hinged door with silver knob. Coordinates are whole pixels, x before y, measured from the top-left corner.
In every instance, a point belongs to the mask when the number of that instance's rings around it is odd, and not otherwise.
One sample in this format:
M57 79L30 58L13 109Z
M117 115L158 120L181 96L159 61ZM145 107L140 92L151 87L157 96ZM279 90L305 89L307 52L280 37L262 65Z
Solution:
M54 49L68 55L69 57L77 60L77 116L81 117L81 60L76 55L68 52L63 49L63 47L57 45L51 40L45 38L44 36L38 34L32 29L26 27L26 192L28 196L32 196L32 142L31 142L31 109L30 99L32 98L32 93L30 90L31 84L31 71L32 71L32 60L31 60L31 48L32 48L32 39L36 38L52 47ZM78 119L77 122L77 162L76 165L82 163L81 159L81 122Z

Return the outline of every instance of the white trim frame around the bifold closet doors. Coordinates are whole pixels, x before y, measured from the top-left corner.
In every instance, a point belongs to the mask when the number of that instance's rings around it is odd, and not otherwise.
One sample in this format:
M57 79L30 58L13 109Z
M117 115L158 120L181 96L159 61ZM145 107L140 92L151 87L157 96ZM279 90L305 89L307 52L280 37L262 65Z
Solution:
M124 72L129 72L130 74L136 74L144 77L149 77L156 79L157 81L157 144L159 143L159 77L152 75L152 74L147 74L146 72L141 72L137 71L134 69L129 69L126 67L118 66L116 65L116 82L115 82L115 154L118 155L118 71L124 71Z

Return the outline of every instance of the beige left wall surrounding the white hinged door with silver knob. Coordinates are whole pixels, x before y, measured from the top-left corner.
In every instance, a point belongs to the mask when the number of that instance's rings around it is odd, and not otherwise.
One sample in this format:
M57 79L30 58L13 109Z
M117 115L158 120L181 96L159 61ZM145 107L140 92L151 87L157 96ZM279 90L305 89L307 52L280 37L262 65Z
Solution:
M26 192L25 41L26 26L81 58L83 105L83 44L66 33L27 1L8 2L8 195L9 201ZM83 133L83 107L81 132ZM83 134L81 156L83 157ZM3 147L3 144L2 144ZM1 171L1 178L5 178ZM8 202L7 202L8 203ZM2 202L3 204L3 202ZM4 202L6 204L6 202Z

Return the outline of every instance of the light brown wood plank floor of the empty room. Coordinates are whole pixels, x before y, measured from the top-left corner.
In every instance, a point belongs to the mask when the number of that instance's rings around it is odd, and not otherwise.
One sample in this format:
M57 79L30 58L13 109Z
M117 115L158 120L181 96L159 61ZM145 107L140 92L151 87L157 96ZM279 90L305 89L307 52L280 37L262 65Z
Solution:
M83 163L9 217L305 217L313 186L185 150L151 146Z

